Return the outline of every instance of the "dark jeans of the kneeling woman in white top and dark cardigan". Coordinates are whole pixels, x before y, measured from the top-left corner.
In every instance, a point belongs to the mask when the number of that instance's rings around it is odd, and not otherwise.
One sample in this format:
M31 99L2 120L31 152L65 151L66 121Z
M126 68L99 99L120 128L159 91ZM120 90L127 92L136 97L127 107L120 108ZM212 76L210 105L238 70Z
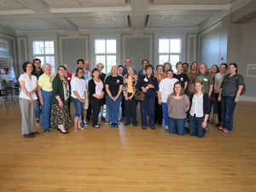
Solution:
M197 136L198 137L204 137L207 130L205 128L202 128L201 124L204 121L205 117L201 118L196 118L194 116L191 116L189 114L189 131L190 131L190 136ZM197 130L196 130L197 126Z

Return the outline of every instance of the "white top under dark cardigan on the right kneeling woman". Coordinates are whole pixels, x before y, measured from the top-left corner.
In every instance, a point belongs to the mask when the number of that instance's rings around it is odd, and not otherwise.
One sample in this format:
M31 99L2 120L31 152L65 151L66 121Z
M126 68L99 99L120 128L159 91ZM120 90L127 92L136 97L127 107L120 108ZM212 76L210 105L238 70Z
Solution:
M196 95L193 96L192 105L190 109L191 116L195 115L195 117L197 118L201 118L204 116L203 96L204 95L202 93L199 97L197 97Z

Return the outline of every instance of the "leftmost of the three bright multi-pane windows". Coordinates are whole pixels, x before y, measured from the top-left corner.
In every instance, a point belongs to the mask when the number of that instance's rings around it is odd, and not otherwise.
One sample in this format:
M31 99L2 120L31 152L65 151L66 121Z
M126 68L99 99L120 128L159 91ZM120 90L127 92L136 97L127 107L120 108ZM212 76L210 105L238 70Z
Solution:
M41 65L49 63L51 73L55 73L55 46L54 41L33 41L33 58L41 60Z

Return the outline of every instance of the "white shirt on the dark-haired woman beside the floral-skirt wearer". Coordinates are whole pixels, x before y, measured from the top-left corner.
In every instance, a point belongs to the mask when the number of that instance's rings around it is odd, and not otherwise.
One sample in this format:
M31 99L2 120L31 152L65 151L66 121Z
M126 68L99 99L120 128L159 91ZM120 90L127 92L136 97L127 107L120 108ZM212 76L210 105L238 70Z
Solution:
M73 93L73 91L77 91L79 94L79 97L81 99L84 99L84 90L85 90L85 93L87 94L88 81L74 77L71 79L70 85L71 85L71 96L77 99L77 97Z

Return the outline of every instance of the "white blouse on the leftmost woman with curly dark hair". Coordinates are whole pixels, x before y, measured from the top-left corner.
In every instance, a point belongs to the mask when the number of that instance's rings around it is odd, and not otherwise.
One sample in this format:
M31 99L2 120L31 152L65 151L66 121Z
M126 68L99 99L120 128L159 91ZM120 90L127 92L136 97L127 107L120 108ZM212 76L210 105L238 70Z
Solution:
M26 73L23 73L23 74L20 75L19 81L24 81L25 82L25 88L28 92L34 90L38 86L37 85L38 78L34 75L31 76L31 80L30 80L29 76ZM19 97L22 98L22 99L29 100L29 97L26 96L26 94L24 93L24 91L22 89L20 91L20 96ZM32 97L33 100L38 99L38 96L36 96L35 93L33 93L31 95L31 97Z

